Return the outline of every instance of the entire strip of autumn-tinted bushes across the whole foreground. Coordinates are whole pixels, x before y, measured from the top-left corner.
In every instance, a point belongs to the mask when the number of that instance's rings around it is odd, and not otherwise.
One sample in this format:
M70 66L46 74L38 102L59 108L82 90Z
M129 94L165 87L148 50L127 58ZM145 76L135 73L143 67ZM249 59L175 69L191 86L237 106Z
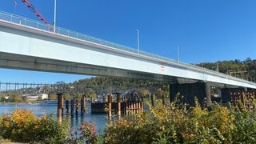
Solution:
M0 135L30 143L256 143L256 110L246 110L241 102L229 109L214 103L212 110L195 103L186 109L177 102L157 102L149 111L134 114L132 121L122 118L107 126L98 136L89 122L72 132L69 122L14 110L0 118Z

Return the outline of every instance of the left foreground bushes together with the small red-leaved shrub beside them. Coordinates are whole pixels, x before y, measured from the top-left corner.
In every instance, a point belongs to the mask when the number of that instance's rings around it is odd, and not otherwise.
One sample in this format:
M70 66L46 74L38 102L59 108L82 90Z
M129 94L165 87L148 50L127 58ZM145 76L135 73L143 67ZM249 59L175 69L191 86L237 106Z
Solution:
M70 123L59 123L53 116L36 117L30 110L14 110L0 118L0 136L11 142L78 143L96 140L95 126L84 122L78 130Z

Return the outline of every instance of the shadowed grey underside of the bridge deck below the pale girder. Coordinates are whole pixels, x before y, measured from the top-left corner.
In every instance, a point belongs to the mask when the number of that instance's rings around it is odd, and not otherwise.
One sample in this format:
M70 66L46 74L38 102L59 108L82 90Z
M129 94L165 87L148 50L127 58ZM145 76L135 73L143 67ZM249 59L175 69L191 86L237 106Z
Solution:
M61 62L47 58L35 58L26 55L0 53L0 67L19 70L38 70L66 74L102 75L125 78L142 78L155 81L177 82L177 78L160 74L143 74L131 70L92 66L76 62ZM21 68L22 67L22 68ZM189 80L181 79L181 82Z

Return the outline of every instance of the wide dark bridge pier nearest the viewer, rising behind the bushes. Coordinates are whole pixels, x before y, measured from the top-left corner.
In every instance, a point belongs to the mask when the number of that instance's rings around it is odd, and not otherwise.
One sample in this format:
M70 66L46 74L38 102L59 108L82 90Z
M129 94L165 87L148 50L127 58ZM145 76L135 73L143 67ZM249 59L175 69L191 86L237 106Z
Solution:
M206 104L210 108L211 96L209 82L170 84L170 102L174 102L175 98L178 98L183 104L186 103L189 106L195 106L195 97L198 98L198 102L201 105Z

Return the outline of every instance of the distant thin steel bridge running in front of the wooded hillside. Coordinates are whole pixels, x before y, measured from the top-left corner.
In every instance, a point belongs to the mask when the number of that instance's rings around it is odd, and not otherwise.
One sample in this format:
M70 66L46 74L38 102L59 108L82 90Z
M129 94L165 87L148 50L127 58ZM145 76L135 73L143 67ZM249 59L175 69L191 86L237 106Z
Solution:
M152 86L147 90L155 91L159 86ZM127 93L138 90L133 86L89 86L75 85L73 83L18 83L0 82L0 94L19 94L19 95L40 95L40 94L86 94L90 91L96 94Z

